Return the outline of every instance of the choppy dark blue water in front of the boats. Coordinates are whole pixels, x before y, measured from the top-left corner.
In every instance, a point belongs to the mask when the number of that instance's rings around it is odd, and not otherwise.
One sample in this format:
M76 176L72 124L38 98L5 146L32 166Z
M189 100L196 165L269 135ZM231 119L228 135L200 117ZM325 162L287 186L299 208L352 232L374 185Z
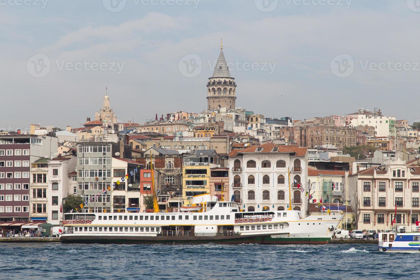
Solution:
M374 244L0 243L0 279L419 279L420 254Z

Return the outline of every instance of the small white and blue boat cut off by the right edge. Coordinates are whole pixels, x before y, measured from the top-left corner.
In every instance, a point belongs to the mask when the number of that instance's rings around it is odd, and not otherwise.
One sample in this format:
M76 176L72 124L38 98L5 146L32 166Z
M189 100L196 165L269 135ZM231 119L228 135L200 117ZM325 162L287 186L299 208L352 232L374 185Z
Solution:
M379 251L420 252L419 227L394 226L388 233L379 233Z

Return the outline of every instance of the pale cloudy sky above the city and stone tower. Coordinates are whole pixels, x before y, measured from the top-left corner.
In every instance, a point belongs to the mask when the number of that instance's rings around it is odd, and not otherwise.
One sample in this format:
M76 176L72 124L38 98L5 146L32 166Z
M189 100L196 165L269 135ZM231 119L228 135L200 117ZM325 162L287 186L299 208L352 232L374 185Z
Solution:
M236 106L420 118L420 0L0 0L0 129L207 107L220 52Z

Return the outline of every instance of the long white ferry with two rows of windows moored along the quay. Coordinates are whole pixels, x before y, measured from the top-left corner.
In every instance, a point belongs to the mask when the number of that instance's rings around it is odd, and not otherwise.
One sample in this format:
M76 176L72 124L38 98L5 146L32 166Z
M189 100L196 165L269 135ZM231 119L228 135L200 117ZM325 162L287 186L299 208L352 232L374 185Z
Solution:
M180 207L179 212L66 213L60 239L63 243L326 244L343 218L301 217L293 210L241 212L236 202L203 197L194 197L202 202Z

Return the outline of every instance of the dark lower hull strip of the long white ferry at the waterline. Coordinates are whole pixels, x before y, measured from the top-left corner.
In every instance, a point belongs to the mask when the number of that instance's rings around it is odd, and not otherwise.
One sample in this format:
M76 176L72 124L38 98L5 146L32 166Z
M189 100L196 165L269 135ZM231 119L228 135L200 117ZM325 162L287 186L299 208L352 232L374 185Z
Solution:
M265 236L193 236L193 237L146 237L146 236L62 236L62 243L102 244L328 244L330 238L271 238Z

